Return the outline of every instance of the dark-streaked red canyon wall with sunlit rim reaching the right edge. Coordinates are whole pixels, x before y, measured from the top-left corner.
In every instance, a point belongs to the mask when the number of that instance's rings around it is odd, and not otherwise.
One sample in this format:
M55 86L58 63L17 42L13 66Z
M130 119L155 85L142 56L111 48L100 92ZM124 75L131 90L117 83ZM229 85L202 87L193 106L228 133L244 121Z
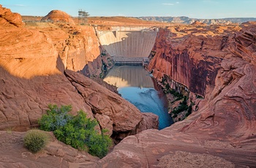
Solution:
M206 96L223 59L236 56L255 64L255 28L253 24L247 27L236 34L232 32L239 30L236 27L160 29L148 69L160 81L167 75Z

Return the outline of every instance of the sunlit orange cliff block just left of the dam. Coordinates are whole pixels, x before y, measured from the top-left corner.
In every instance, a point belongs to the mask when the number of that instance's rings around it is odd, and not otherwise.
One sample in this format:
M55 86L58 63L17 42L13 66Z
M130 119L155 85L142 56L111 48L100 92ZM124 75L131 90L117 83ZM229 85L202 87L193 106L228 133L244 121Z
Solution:
M99 55L99 41L91 26L69 26L41 28L53 41L65 69L80 71Z

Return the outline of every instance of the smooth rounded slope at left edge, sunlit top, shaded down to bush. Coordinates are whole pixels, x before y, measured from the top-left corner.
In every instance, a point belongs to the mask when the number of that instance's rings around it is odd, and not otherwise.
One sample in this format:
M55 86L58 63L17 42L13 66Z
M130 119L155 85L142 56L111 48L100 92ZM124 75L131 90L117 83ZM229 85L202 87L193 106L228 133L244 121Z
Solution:
M71 104L73 112L81 109L92 117L45 34L26 28L0 31L0 129L37 126L48 104Z

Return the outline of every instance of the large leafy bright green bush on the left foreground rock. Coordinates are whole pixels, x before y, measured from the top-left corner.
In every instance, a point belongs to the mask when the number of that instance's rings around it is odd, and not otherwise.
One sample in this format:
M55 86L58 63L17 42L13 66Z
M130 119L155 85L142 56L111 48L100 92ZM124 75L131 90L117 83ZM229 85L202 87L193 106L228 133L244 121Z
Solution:
M61 142L71 145L79 150L88 150L93 156L104 157L112 144L110 137L105 135L106 130L99 134L94 127L97 121L86 118L86 113L78 111L78 115L67 114L70 106L50 105L46 115L39 120L39 128L45 131L53 131Z

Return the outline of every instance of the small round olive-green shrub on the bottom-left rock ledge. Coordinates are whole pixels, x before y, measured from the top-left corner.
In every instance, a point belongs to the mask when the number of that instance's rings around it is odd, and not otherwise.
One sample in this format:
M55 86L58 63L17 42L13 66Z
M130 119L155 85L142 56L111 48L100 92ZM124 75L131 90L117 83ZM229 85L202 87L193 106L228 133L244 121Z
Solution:
M23 143L32 153L37 153L45 147L48 142L48 135L37 129L27 131Z

